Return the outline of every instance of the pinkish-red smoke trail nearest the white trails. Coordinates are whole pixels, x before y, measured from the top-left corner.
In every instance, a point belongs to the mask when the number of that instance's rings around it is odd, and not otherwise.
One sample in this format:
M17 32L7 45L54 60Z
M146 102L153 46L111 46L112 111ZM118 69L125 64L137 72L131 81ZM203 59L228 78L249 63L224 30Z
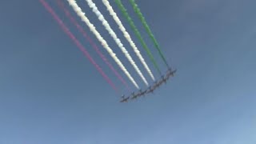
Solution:
M117 70L114 69L114 67L108 62L106 57L102 54L102 52L98 49L98 46L92 41L92 39L86 34L86 31L82 29L82 26L76 22L76 20L72 17L69 10L67 10L64 6L64 3L62 0L57 0L58 6L62 8L62 10L65 12L66 17L70 18L70 21L74 24L74 26L77 27L77 29L82 33L83 37L86 38L88 42L90 42L90 45L93 46L94 50L98 53L98 55L102 58L104 62L106 62L106 65L110 67L110 69L114 72L114 74L118 77L118 79L126 86L128 90L130 90L130 87L127 85L126 81L121 77L120 74L118 74Z

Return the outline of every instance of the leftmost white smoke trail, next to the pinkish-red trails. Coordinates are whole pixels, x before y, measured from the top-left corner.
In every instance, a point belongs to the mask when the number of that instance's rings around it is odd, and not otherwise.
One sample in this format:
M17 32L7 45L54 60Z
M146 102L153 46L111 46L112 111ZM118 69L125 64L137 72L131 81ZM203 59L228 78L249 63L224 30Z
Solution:
M138 84L134 81L134 78L130 75L130 73L126 70L126 67L122 65L122 62L118 59L116 54L114 54L113 50L110 49L110 46L106 43L105 39L102 38L101 34L98 33L96 28L92 23L90 23L90 20L86 17L86 14L82 12L81 8L78 6L78 4L74 0L67 0L70 4L70 6L74 9L74 11L78 14L78 16L82 19L83 22L86 22L86 25L89 26L90 30L94 33L96 38L98 38L98 41L102 43L102 46L107 50L107 52L110 54L112 58L114 58L114 61L117 62L118 66L122 69L122 71L126 74L126 76L130 79L130 81L134 84L134 86L139 89Z

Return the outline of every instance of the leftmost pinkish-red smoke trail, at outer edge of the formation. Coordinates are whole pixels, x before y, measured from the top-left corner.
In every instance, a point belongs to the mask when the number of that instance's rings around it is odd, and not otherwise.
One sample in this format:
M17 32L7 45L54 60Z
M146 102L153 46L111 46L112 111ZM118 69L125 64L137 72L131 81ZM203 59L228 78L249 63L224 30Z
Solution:
M116 90L116 92L118 92L118 90L116 89L116 87L114 86L114 83L111 82L110 78L108 78L106 76L106 74L102 71L102 69L98 66L98 64L96 62L94 62L94 59L90 57L90 54L86 51L86 49L82 46L82 44L78 41L77 38L74 37L74 34L72 34L70 32L70 30L65 26L65 24L62 22L62 20L58 17L58 15L54 12L54 10L49 6L49 4L45 1L45 0L39 0L42 5L46 8L46 10L53 16L53 18L55 19L56 22L58 22L59 26L62 27L62 30L70 37L70 39L73 40L73 42L78 46L78 48L82 51L83 54L86 55L86 58L89 59L89 61L96 67L96 69L98 70L98 72L100 74L102 74L102 77L106 79L106 82L108 82L110 84L110 86L112 86L112 88L114 90Z

